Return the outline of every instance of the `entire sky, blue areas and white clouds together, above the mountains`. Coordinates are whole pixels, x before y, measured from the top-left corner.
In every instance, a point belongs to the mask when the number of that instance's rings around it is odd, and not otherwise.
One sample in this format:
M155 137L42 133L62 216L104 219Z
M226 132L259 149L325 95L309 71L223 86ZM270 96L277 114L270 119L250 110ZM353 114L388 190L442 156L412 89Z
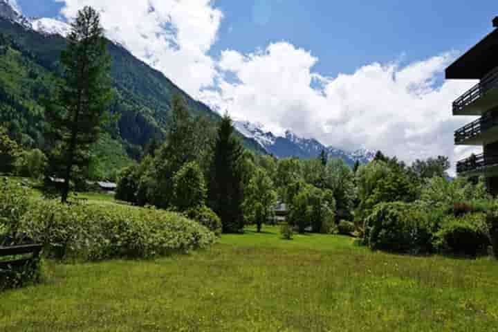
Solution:
M234 118L408 163L454 147L452 101L475 84L444 69L492 30L496 1L17 0L71 21L90 5L107 35ZM475 150L479 151L479 149Z

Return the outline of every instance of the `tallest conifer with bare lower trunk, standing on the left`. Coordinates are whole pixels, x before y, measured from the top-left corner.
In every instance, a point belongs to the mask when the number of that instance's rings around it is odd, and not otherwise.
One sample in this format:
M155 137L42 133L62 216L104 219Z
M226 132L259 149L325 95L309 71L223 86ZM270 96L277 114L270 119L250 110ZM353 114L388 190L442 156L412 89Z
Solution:
M64 178L62 203L66 203L73 172L88 165L89 147L98 140L112 99L111 58L100 15L93 8L80 10L71 24L61 64L62 84L54 104L46 108L46 116L55 145L50 166Z

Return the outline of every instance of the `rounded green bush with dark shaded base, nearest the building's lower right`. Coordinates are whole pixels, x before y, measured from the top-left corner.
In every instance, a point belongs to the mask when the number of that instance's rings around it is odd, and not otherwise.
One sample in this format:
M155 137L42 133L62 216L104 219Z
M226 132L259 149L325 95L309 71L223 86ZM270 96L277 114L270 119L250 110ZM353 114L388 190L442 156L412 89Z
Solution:
M457 255L485 255L490 246L486 214L448 216L436 232L434 245L441 252Z

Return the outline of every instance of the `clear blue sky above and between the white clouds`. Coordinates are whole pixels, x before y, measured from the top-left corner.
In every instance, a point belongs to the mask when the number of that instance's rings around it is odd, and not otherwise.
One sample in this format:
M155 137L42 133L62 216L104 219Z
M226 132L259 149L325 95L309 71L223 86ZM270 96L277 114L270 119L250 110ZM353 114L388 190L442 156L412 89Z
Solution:
M18 0L25 15L57 17L63 3ZM118 3L118 1L116 1ZM335 76L371 62L411 62L462 51L490 31L496 1L217 0L225 17L210 50L243 53L287 41L320 58L316 70Z

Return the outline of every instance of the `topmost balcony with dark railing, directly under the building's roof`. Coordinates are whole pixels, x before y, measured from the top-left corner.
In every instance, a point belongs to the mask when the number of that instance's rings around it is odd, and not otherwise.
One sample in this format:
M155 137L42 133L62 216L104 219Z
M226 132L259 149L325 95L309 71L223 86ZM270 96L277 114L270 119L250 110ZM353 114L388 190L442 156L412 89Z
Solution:
M498 105L498 67L453 102L454 116L480 116Z

